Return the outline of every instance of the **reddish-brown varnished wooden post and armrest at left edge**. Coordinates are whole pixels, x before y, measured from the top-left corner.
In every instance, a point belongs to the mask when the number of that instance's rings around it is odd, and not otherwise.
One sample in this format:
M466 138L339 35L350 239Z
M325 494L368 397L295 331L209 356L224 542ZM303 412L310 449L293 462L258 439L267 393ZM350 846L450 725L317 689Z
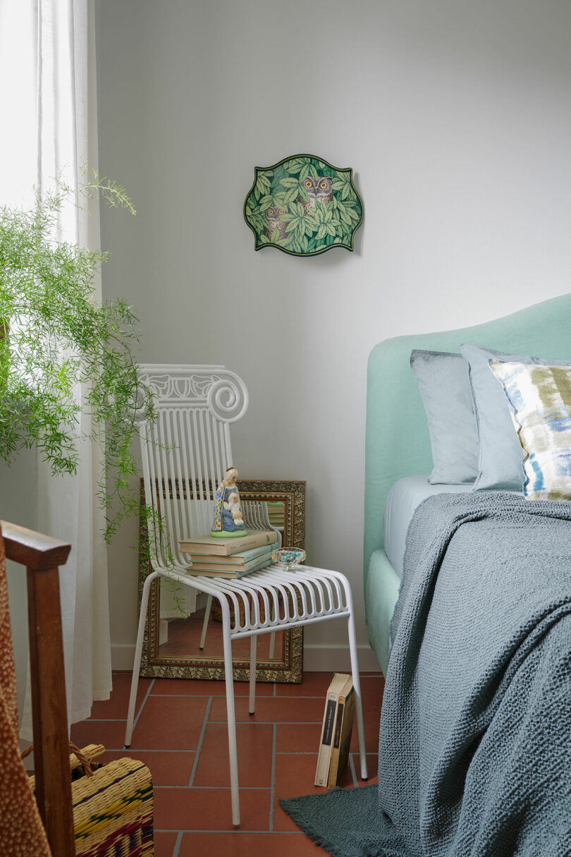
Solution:
M36 800L53 857L74 857L58 566L71 546L2 522L9 560L27 568Z

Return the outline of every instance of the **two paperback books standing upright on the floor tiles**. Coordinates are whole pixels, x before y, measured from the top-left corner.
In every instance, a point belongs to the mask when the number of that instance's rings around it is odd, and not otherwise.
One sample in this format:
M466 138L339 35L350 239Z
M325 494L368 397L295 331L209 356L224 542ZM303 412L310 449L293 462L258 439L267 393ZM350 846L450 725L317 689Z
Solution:
M325 699L315 785L334 788L349 758L355 714L355 694L350 675L336 673Z

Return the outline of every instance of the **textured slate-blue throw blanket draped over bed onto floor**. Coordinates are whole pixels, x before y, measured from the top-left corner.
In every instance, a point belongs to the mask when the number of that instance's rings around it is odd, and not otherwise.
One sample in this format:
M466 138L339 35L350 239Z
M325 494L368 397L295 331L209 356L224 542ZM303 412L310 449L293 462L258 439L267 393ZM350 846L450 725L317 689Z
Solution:
M425 500L392 632L378 788L283 808L336 857L569 857L571 503Z

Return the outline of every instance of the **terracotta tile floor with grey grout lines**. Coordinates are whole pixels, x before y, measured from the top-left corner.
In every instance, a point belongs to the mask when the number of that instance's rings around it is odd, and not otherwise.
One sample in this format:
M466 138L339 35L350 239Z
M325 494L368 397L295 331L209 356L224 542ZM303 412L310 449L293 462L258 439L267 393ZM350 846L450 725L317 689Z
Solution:
M131 755L152 773L156 857L305 857L324 854L279 806L280 798L324 792L313 786L330 673L304 673L300 685L259 684L247 713L246 682L235 682L241 826L230 812L223 681L141 679L133 743L123 750L131 676L113 675L107 702L71 730L75 743L107 747L102 761ZM369 783L377 782L380 673L361 674ZM357 730L340 785L360 784Z

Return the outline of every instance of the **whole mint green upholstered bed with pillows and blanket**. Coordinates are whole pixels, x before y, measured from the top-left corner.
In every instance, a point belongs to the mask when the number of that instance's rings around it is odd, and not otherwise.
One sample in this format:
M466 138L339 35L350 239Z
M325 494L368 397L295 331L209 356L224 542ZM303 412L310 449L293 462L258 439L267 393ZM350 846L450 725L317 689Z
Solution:
M570 321L565 296L372 351L378 786L287 807L330 854L571 854Z

